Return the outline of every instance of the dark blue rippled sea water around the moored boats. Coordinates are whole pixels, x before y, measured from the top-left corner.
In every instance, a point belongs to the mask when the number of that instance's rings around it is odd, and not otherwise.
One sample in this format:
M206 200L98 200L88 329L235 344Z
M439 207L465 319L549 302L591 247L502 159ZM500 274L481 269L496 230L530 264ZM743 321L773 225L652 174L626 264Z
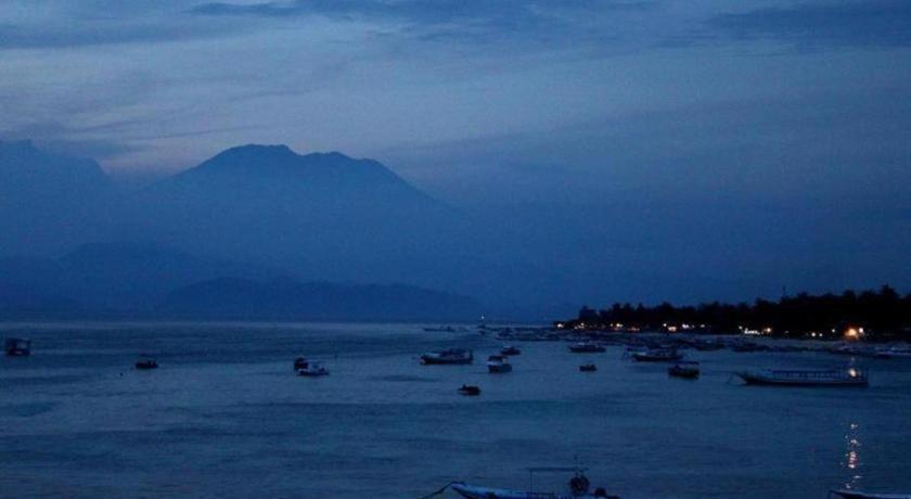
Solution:
M875 362L865 389L764 388L730 372L847 359L691 351L703 376L684 381L619 347L528 343L491 375L499 342L415 325L0 325L14 334L34 355L0 359L3 497L416 498L452 479L527 488L528 466L574 460L624 498L911 490L911 360ZM479 359L416 360L455 345ZM140 353L161 369L132 370ZM299 354L332 374L294 375Z

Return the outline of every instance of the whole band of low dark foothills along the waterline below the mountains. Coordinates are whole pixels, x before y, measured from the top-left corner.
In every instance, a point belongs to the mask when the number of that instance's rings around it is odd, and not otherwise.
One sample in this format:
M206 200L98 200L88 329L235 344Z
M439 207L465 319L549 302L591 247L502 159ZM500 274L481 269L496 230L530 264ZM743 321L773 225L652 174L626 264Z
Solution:
M473 298L405 285L301 282L278 269L137 243L0 258L0 319L474 319Z

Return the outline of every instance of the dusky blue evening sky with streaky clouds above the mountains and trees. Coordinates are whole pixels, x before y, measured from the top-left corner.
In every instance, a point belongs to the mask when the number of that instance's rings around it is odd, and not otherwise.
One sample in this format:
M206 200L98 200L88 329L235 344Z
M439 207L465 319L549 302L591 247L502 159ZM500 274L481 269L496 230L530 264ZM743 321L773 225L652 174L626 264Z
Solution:
M633 256L741 231L694 247L798 286L904 280L909 26L901 0L4 0L0 139L124 179L342 151Z

